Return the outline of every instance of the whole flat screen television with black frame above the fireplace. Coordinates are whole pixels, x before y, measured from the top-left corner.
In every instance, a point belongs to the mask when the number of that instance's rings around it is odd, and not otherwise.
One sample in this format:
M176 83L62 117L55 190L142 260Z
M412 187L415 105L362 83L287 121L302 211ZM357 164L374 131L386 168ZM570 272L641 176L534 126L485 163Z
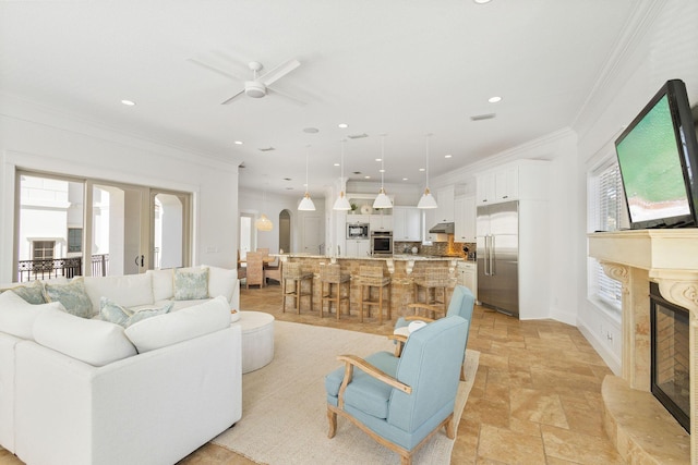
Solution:
M698 143L683 81L662 86L615 149L630 229L698 224Z

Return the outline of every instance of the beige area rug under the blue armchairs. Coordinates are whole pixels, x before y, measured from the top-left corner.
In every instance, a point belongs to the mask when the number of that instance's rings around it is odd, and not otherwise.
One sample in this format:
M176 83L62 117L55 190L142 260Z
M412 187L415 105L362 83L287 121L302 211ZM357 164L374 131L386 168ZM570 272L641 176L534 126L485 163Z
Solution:
M398 454L373 441L346 418L327 438L324 377L336 356L393 352L387 338L334 328L275 322L275 356L242 377L242 419L214 443L263 464L399 464ZM456 399L456 424L468 400L480 353L468 351L466 379ZM414 464L448 464L454 441L442 428L416 454Z

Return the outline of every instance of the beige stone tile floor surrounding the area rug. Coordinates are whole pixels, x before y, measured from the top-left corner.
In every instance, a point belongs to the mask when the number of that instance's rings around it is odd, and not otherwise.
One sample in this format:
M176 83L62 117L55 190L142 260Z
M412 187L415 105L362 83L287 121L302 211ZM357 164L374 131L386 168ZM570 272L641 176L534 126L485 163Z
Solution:
M315 303L317 306L318 303ZM388 334L393 322L282 314L280 287L241 290L241 307L278 320ZM468 347L480 366L458 426L452 464L623 464L602 426L601 381L611 374L581 333L551 320L519 321L477 306ZM3 455L4 454L4 455ZM0 450L0 464L21 463ZM253 464L206 444L180 465Z

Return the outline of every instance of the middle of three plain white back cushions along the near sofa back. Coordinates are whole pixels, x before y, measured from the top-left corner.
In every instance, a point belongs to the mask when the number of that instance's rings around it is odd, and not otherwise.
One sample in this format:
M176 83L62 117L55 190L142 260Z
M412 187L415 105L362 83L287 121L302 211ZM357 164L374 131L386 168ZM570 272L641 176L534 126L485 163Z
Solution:
M38 315L34 322L34 340L96 367L136 354L119 325L77 318L56 309L47 309Z

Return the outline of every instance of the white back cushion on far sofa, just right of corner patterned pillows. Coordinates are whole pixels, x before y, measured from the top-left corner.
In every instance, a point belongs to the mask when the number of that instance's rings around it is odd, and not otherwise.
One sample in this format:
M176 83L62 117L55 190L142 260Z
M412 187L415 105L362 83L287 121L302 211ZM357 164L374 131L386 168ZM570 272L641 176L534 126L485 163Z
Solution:
M152 305L153 279L151 274L118 277L85 277L85 291L92 302L93 315L99 313L99 301L107 297L125 307Z

